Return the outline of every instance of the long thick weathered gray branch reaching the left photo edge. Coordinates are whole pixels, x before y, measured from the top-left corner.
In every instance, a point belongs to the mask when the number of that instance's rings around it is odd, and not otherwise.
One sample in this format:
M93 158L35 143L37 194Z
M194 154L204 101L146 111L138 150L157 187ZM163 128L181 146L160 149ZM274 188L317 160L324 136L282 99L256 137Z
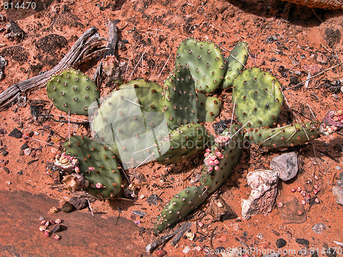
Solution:
M53 69L36 77L31 77L14 84L0 93L0 110L10 106L10 104L16 101L21 94L26 93L28 90L43 86L55 73L60 73L71 66L80 64L84 56L88 56L95 48L95 50L98 51L99 46L102 45L102 41L104 40L106 40L106 38L100 37L95 27L88 29Z

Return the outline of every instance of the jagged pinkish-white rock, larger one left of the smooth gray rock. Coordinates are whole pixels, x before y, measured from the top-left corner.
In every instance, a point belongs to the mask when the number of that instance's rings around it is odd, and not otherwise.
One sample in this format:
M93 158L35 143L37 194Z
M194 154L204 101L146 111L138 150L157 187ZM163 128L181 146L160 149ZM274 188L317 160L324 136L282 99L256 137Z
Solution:
M241 201L241 216L250 219L252 215L268 215L277 196L278 174L275 171L250 171L246 177L251 193Z

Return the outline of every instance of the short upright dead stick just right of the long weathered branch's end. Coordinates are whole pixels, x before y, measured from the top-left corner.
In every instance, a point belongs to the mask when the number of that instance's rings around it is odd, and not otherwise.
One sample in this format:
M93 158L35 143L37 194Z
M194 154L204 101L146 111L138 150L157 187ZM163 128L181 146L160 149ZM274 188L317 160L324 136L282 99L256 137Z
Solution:
M118 34L117 34L117 23L114 21L108 21L108 45L106 52L104 54L104 58L106 56L115 56L115 47L117 47L117 42L118 42ZM104 79L104 72L102 71L102 62L99 63L97 66L97 70L95 71L93 75L93 81L97 86L101 86L102 81Z

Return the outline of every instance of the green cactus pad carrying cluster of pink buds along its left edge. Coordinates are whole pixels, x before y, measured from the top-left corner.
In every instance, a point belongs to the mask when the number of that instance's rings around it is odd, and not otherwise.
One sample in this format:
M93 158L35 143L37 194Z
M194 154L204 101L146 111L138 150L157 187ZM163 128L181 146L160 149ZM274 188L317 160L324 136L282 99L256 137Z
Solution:
M214 193L228 179L231 171L238 164L243 149L243 132L241 126L232 125L215 138L211 150L206 150L201 184Z

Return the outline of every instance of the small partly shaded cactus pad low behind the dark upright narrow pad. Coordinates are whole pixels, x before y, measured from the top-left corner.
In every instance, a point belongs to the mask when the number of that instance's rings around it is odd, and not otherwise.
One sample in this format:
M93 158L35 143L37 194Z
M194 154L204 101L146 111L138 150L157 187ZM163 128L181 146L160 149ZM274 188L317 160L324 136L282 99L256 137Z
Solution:
M220 112L220 99L217 97L206 97L204 93L198 92L196 104L199 123L214 121Z

